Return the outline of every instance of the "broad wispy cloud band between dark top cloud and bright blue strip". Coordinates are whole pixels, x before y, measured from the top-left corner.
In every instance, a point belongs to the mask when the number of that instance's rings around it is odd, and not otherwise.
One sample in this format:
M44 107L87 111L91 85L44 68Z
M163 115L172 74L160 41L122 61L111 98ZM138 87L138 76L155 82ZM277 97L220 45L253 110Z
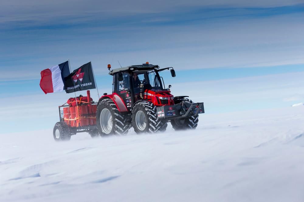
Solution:
M72 69L92 61L96 74L145 61L177 70L303 64L303 22L297 15L219 20L194 25L66 28L5 35L3 80L37 79L40 71L70 59ZM25 35L23 35L23 33ZM21 37L21 38L20 38ZM16 40L13 40L16 39ZM10 41L15 41L11 43Z

